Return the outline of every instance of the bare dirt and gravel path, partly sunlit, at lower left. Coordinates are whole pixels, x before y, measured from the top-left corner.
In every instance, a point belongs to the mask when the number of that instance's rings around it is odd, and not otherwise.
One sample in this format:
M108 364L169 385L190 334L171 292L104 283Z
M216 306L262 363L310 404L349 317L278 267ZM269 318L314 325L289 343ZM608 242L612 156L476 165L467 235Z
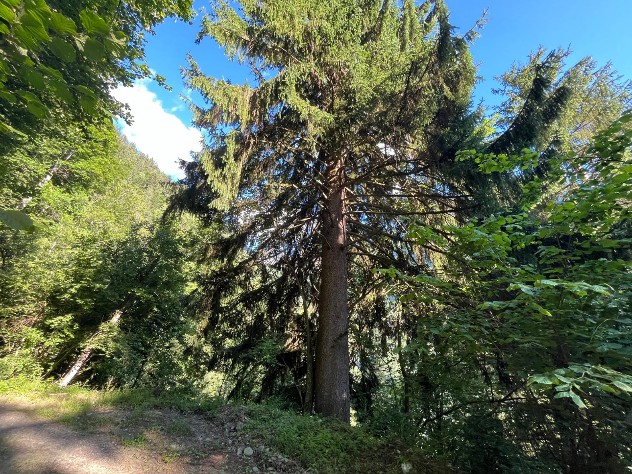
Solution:
M213 416L98 406L48 415L41 402L0 398L1 474L304 472L243 433L243 407Z

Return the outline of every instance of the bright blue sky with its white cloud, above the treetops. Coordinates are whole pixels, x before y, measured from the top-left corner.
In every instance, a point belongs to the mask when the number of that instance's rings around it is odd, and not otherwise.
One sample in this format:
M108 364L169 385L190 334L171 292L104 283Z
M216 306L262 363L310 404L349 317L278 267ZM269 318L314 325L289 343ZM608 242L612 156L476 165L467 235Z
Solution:
M194 6L200 11L207 4L207 0L195 0ZM494 76L514 61L525 61L540 45L549 49L570 46L569 65L592 56L599 65L611 61L621 75L632 78L632 0L447 0L447 6L451 23L461 31L468 30L483 9L489 8L490 20L471 49L475 62L480 63L479 75L485 79L477 85L475 98L486 104L497 101L490 92L495 87ZM194 25L167 20L155 28L156 35L147 44L150 68L166 77L173 92L149 81L118 92L136 116L133 127L123 132L173 176L179 172L172 155L185 158L188 150L198 148L200 140L200 133L190 128L191 114L179 98L179 94L190 94L180 77L187 52L207 75L233 83L243 83L248 76L248 69L228 61L211 39L195 44L201 16Z

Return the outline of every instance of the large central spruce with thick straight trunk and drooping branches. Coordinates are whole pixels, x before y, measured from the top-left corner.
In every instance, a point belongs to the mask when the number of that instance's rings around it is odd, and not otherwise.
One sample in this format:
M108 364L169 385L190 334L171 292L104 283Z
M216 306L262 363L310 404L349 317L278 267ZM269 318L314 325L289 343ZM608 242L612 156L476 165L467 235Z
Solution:
M308 298L318 308L314 408L348 422L348 310L379 284L368 270L418 272L427 261L403 219L441 226L439 216L490 199L489 178L454 163L484 138L470 112L468 52L484 21L455 35L442 1L239 6L214 3L198 42L211 37L248 64L255 86L206 76L193 58L184 72L207 104L191 109L209 144L186 165L172 209L226 233L211 250L222 264L198 288L199 336L219 328L219 345L243 341L210 363L234 367L236 354L286 327Z

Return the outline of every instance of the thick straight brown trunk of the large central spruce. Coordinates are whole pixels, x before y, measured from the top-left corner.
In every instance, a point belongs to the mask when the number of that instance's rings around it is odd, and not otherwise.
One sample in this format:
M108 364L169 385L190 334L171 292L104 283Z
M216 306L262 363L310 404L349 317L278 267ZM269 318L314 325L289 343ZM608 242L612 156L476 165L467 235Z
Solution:
M327 160L322 212L319 329L316 343L315 410L349 423L349 333L346 216L342 157Z

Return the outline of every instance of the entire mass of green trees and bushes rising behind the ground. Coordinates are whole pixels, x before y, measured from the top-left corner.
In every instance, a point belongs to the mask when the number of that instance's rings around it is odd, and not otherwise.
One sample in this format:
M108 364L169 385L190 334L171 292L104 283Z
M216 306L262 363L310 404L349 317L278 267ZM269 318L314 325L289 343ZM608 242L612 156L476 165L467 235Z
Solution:
M627 472L632 83L540 47L475 106L487 18L448 6L212 2L197 42L255 81L188 58L205 143L173 182L111 89L191 1L0 0L0 379L275 403L467 473Z

